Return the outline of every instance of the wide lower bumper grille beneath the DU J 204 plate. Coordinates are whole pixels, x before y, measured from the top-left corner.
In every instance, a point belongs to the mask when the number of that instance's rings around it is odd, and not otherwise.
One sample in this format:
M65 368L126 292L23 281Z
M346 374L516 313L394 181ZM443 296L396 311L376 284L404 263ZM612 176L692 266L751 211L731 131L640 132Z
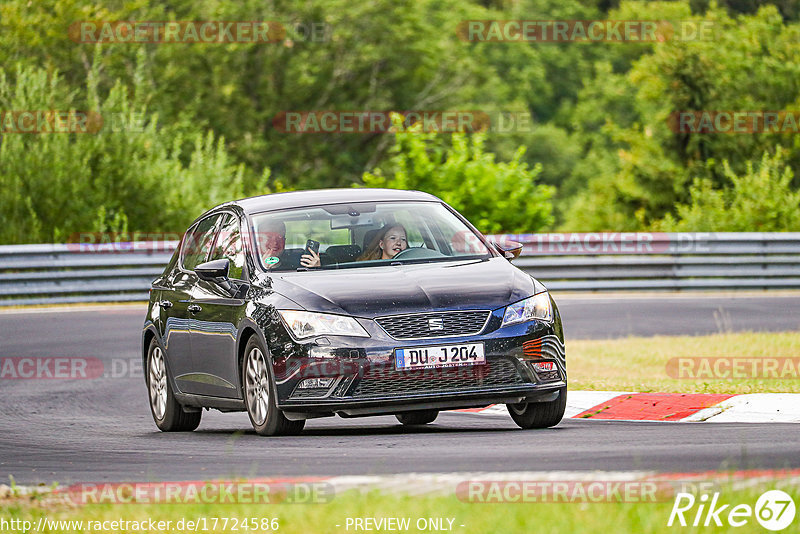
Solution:
M465 365L444 369L397 371L392 368L372 368L364 374L352 395L354 397L376 397L410 393L469 391L523 383L514 362L507 358L499 358L484 365Z

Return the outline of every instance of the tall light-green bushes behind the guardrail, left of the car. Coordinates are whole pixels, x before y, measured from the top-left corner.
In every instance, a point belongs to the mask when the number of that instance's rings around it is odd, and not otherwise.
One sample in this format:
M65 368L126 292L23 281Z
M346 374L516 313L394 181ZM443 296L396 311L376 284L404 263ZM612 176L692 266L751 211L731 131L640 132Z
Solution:
M92 83L90 77L86 91L96 95ZM76 110L75 94L57 73L0 69L2 109ZM180 232L202 210L242 195L244 169L211 132L159 128L120 84L93 109L104 120L97 133L3 136L0 242L59 242L76 232L128 228Z

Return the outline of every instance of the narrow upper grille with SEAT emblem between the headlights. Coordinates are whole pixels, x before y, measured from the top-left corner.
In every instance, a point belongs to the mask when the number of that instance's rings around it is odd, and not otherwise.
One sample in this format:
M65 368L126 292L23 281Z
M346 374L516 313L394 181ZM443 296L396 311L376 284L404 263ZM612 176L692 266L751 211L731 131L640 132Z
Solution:
M450 311L392 315L375 319L395 339L469 336L483 330L489 311Z

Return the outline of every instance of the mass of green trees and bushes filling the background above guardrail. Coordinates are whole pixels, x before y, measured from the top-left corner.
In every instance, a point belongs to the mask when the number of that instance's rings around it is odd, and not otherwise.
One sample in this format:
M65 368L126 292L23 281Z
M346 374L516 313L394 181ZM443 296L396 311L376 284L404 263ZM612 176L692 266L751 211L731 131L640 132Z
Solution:
M760 172L762 154L778 145L793 172L787 187L800 186L798 135L668 125L679 111L800 110L796 4L6 0L0 111L115 113L116 128L3 135L0 243L174 232L238 196L403 180L445 197L487 232L691 225L680 209L696 197L728 199L731 173ZM466 20L603 18L714 31L708 40L654 43L465 42L457 32ZM276 43L70 38L73 22L115 20L276 21L287 34ZM309 38L303 30L314 24L322 31ZM288 134L273 124L281 112L322 110L530 112L534 127L451 138ZM747 229L728 219L715 227Z

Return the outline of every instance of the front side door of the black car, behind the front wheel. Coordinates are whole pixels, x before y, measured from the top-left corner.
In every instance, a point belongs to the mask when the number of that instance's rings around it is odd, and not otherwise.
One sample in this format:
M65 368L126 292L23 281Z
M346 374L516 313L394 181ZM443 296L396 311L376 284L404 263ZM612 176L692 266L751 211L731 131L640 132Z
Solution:
M225 214L210 260L227 259L230 262L230 287L198 279L191 295L191 305L197 310L191 322L192 361L195 371L203 378L196 386L203 395L240 396L236 339L244 314L242 297L246 291L242 245L239 217L233 213Z

